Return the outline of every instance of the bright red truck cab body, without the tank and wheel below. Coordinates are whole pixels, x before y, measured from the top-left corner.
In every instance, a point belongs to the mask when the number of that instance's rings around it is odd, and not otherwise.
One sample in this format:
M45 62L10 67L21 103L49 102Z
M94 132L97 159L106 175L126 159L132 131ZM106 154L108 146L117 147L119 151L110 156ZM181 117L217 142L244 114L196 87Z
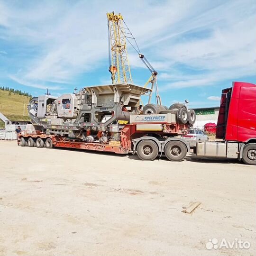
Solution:
M256 142L256 84L233 82L222 90L216 138Z

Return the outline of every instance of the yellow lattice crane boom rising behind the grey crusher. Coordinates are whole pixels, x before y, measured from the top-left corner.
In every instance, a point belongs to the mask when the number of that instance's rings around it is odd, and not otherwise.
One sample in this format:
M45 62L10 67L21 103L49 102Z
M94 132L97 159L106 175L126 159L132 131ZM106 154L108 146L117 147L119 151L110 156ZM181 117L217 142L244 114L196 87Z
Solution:
M109 71L112 83L132 83L128 61L126 34L127 27L123 26L123 17L119 13L107 13L109 28Z

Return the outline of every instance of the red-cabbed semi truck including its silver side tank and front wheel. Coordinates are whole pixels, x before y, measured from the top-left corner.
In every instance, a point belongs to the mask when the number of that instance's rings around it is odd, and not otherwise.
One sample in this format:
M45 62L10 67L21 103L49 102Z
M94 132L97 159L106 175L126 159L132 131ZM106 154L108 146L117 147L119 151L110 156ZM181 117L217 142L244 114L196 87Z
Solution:
M194 153L256 165L256 84L233 82L222 90L216 138L222 141L198 142Z

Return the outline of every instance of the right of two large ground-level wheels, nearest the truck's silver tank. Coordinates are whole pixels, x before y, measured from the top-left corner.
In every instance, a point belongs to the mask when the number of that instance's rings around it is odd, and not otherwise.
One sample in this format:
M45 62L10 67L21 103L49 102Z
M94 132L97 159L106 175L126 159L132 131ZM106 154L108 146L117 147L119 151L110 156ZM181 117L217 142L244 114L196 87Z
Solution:
M180 162L187 155L187 147L182 141L170 141L165 145L165 156L170 161Z

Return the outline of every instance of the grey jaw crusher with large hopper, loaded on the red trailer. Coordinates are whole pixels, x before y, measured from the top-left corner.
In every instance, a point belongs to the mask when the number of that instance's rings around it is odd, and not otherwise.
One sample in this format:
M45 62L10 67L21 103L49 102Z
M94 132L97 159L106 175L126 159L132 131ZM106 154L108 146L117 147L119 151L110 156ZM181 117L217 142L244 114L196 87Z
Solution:
M140 96L150 89L129 83L84 87L60 97L43 95L28 103L36 130L92 142L119 136L131 114L140 110Z

